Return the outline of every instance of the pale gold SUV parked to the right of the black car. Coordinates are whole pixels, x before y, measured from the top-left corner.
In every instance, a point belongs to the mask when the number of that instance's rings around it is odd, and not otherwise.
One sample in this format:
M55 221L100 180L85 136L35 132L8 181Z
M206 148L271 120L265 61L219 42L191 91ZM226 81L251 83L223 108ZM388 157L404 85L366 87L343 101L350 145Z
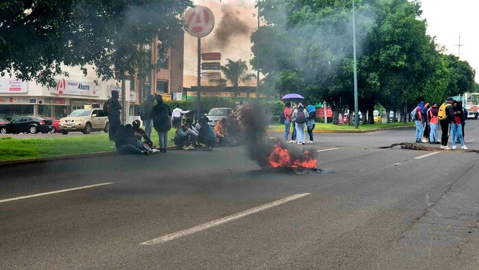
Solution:
M89 134L96 130L108 133L108 129L108 117L99 108L74 110L68 117L60 119L60 132L64 135L68 132Z

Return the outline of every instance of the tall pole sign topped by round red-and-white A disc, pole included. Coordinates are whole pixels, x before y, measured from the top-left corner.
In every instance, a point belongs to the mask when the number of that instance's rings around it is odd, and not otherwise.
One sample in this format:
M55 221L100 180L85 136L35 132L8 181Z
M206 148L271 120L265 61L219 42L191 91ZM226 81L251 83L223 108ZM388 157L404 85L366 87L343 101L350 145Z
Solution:
M201 38L207 36L213 27L215 26L215 17L213 12L203 5L196 5L194 8L190 8L185 13L185 21L187 26L187 33L191 36L198 38L198 90L196 94L196 117L200 119L201 115L201 106L200 106L200 88L201 88L201 77L200 77L200 66L201 66Z

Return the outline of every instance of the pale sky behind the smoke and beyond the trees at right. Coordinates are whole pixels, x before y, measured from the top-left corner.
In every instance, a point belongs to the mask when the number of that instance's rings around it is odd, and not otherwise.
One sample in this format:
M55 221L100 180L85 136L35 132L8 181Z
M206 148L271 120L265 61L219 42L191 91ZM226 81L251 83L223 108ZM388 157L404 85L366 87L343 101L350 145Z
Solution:
M202 38L203 52L221 52L221 64L226 58L246 60L253 58L250 48L250 34L257 29L256 0L194 0L196 5L205 5L215 15L213 32ZM427 33L435 36L443 45L445 53L458 53L461 36L461 60L467 60L479 73L479 34L476 33L479 16L477 0L422 0L422 19L428 23ZM223 22L223 23L222 23ZM235 25L236 27L228 27ZM196 85L196 38L185 34L185 78L191 77ZM255 73L250 69L251 73ZM476 75L478 82L479 75ZM255 85L256 82L251 82ZM185 82L185 87L189 87Z

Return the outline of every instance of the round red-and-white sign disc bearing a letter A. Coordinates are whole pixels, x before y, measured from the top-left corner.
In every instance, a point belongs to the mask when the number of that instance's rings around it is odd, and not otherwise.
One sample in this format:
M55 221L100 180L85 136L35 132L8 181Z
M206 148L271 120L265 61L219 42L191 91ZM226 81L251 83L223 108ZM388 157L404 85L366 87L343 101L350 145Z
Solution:
M213 12L203 5L196 5L185 13L188 34L196 38L203 38L213 30L215 17Z

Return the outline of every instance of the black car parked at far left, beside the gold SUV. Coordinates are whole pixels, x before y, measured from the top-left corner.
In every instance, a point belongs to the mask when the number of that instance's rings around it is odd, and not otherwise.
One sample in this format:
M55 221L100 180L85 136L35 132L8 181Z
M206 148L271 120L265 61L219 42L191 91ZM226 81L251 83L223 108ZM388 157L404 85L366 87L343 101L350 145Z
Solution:
M53 129L53 125L51 125L51 120L42 119L39 117L34 116L21 116L12 119L12 121L8 123L4 123L0 125L0 133L7 134L13 133L18 134L21 132L25 133L48 133Z

